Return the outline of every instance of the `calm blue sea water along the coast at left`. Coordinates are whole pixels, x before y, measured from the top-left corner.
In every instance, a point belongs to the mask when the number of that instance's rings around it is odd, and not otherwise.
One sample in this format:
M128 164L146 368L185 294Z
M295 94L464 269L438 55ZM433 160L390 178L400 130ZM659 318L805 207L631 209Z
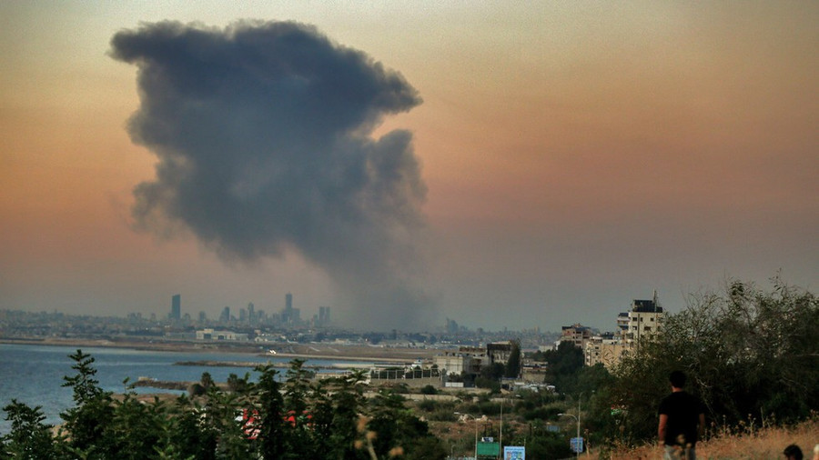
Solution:
M166 352L108 347L81 349L83 353L95 359L93 367L96 368L95 376L100 387L114 393L126 391L137 394L185 393L150 387L126 388L124 383L126 379L129 379L128 383L133 383L139 377L167 381L198 381L202 373L207 372L214 381L225 382L230 374L242 377L250 373L251 381L256 381L258 376L258 373L248 367L175 365L180 362L241 361L287 364L290 360L273 355L238 353ZM63 377L76 375L76 371L71 368L74 362L68 357L76 353L76 350L77 346L0 344L0 409L16 400L32 407L40 406L45 415L45 424L63 423L60 413L74 406L71 388L62 386L65 383ZM305 365L319 366L319 372L331 373L340 372L339 363L350 367L369 364L315 359L308 360ZM280 375L284 375L285 371L286 369L279 369ZM11 423L5 420L5 411L0 417L2 417L0 436L7 435L11 431Z

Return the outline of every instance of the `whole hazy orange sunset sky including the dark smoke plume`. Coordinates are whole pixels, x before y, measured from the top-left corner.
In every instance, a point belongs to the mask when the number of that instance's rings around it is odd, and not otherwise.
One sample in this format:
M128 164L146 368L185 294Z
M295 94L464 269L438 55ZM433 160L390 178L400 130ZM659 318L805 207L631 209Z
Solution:
M819 281L815 2L0 2L0 308L613 330Z

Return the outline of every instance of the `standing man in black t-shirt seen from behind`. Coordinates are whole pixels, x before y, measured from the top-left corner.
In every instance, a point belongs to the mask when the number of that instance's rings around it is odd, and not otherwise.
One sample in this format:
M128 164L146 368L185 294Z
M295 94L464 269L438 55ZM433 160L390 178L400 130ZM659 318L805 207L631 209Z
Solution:
M703 403L682 388L685 386L685 374L674 371L669 375L672 394L660 402L660 425L657 436L660 445L665 448L666 460L695 460L694 448L705 429L705 410Z

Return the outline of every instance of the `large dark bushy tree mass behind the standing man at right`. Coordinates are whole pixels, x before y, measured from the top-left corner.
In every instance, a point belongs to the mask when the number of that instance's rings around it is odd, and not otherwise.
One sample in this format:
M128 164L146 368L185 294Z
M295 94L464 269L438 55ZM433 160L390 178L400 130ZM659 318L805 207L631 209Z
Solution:
M656 433L657 405L674 369L703 399L718 425L794 422L819 407L819 304L806 291L773 278L773 291L729 282L723 292L691 295L664 332L622 361L610 403L622 406L633 441ZM626 439L628 441L628 439Z

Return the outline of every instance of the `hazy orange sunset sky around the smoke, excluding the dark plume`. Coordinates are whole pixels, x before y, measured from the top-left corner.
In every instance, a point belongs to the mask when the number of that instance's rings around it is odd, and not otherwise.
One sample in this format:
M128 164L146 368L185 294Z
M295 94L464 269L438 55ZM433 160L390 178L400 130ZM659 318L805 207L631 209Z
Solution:
M210 312L292 292L367 322L339 287L366 272L303 232L248 258L190 221L136 229L160 158L128 131L145 91L111 41L239 19L314 26L417 91L369 139L404 130L418 160L417 265L393 279L430 325L606 329L654 290L674 313L726 277L815 289L819 5L5 2L0 308L167 315L177 293Z

